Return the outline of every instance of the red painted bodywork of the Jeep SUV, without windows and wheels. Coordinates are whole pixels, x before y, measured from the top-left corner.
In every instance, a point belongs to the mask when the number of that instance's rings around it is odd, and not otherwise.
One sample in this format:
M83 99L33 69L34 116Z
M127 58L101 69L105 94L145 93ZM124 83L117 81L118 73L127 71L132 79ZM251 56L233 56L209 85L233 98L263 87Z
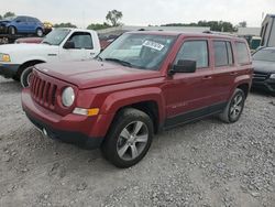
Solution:
M251 63L238 65L234 62L231 67L215 67L212 40L231 42L234 59L238 58L234 43L244 43L243 40L211 34L146 33L176 36L160 70L143 70L98 61L37 65L31 87L22 91L22 106L28 117L54 130L103 139L116 113L123 107L152 101L157 111L157 128L169 128L165 127L168 119L227 102L237 87L245 86L248 90L251 87ZM209 45L209 67L190 74L169 75L170 65L183 43L201 39L207 40ZM50 89L45 96L47 85ZM76 94L75 102L69 108L61 102L62 91L67 86L72 86ZM85 117L73 113L76 107L99 108L100 111L98 116Z

